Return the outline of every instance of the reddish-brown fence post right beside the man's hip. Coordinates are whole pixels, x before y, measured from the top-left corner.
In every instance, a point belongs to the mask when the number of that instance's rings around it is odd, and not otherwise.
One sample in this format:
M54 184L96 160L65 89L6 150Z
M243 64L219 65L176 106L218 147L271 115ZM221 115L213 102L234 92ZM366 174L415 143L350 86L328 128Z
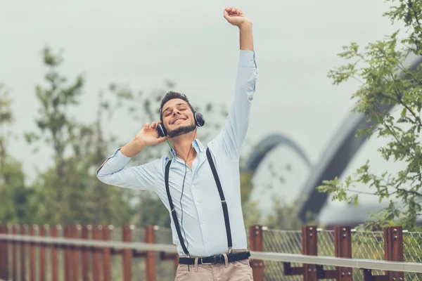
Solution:
M251 251L264 251L264 241L262 240L262 226L249 226L249 247ZM260 259L251 259L253 280L264 280L264 262Z

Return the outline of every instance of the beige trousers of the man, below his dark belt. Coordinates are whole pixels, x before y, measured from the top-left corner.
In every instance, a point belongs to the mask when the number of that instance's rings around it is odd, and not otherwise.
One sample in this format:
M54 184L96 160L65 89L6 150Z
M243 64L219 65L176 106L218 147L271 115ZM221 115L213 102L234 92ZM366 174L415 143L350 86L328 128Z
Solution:
M246 249L236 249L232 252L237 253L247 251ZM191 256L198 258L197 256ZM226 254L224 254L226 259ZM200 257L199 257L200 259ZM189 268L188 268L189 267ZM253 281L252 268L249 260L231 261L226 259L225 263L217 264L196 264L186 265L179 264L176 271L176 278L174 281L188 280L188 281Z

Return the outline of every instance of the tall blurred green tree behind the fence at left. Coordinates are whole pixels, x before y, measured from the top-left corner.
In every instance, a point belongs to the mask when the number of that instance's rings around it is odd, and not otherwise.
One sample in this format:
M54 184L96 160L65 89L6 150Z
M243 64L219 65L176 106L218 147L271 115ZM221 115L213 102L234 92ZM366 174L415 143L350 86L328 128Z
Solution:
M53 165L39 171L33 184L37 216L32 223L122 224L129 221L129 196L96 179L96 169L106 159L110 146L110 139L102 130L107 107L101 94L93 124L77 122L72 110L78 109L84 86L82 75L68 85L67 79L58 72L63 63L61 53L44 48L43 59L48 68L47 86L36 88L40 104L35 120L37 131L25 133L25 137L29 143L51 148Z

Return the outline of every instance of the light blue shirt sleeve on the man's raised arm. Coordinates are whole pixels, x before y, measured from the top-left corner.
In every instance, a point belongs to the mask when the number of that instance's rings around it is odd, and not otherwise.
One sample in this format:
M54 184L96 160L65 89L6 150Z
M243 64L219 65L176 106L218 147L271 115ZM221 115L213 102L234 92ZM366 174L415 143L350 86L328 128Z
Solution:
M256 81L255 51L241 50L235 93L229 115L226 117L221 133L214 140L215 145L219 145L231 159L238 159L241 155L241 147L248 132L250 107L255 93Z

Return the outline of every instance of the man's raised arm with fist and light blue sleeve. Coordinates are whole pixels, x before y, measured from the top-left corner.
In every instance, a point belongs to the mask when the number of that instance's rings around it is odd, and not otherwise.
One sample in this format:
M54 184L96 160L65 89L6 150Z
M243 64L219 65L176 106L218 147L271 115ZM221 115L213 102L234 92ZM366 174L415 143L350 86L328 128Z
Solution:
M245 18L236 8L226 8L224 18L238 27L240 33L240 53L234 98L222 132L215 138L215 145L222 147L226 155L237 160L248 131L250 106L255 93L257 65L253 49L252 21Z

